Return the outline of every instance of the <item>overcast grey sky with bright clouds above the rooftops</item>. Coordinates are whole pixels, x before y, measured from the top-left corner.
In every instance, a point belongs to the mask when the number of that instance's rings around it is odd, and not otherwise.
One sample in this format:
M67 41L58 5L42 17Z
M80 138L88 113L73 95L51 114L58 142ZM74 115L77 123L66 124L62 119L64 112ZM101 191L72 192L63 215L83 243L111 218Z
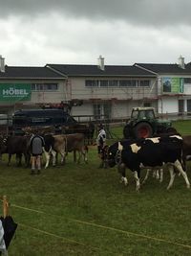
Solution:
M191 61L191 0L0 0L6 64Z

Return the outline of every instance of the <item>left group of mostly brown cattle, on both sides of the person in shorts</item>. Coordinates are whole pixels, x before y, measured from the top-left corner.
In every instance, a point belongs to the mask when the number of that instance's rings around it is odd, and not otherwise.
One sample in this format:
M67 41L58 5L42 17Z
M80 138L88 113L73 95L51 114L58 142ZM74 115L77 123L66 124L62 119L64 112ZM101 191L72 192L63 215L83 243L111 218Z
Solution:
M83 155L84 161L87 163L88 146L85 145L85 136L83 133L74 134L46 134L41 135L45 141L44 154L46 158L45 168L49 166L50 158L53 157L53 166L56 163L56 155L61 155L61 162L65 162L68 152L74 151L74 161L78 163ZM31 148L30 139L31 135L23 136L0 136L0 156L8 154L8 166L11 165L11 156L16 155L17 166L21 166L22 157L25 158L25 166L30 166L31 161ZM76 151L78 158L76 159Z

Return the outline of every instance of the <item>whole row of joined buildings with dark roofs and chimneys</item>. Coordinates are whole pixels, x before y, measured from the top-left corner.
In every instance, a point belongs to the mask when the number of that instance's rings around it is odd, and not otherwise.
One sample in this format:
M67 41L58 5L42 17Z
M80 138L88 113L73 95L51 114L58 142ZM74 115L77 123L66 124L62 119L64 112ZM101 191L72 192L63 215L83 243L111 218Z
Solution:
M0 57L0 114L62 107L84 120L126 119L134 106L159 113L191 112L191 64L5 65ZM82 117L83 116L83 117Z

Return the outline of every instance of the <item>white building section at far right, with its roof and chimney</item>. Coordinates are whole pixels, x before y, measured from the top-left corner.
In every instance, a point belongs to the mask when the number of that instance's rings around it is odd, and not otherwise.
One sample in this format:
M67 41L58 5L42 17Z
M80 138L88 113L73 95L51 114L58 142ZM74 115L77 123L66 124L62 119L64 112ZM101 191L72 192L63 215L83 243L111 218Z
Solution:
M175 64L136 63L157 76L158 112L174 115L191 113L191 63L180 57Z

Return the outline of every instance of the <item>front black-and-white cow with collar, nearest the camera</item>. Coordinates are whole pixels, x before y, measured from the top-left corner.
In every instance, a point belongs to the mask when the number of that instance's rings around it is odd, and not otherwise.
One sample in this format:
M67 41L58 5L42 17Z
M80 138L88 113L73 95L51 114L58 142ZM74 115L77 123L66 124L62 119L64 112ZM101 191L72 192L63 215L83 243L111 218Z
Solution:
M178 135L118 141L109 147L108 165L117 165L118 172L122 175L121 181L125 184L128 183L125 168L134 172L137 190L140 186L141 168L161 168L164 165L168 165L171 176L167 189L173 185L176 175L174 167L183 176L187 188L190 188L182 164L182 138Z

